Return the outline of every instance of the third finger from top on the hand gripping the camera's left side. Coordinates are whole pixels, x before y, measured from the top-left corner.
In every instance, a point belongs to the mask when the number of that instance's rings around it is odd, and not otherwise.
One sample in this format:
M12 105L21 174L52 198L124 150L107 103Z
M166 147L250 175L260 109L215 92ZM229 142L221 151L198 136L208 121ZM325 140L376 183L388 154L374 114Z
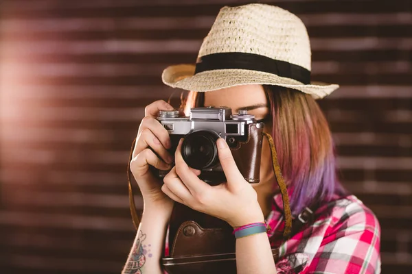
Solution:
M144 131L141 132L139 138L137 139L135 153L137 153L138 151L143 151L147 147L153 149L164 162L172 164L172 155L170 155L169 151L167 151L165 147L161 145L159 139L148 128L144 129Z

